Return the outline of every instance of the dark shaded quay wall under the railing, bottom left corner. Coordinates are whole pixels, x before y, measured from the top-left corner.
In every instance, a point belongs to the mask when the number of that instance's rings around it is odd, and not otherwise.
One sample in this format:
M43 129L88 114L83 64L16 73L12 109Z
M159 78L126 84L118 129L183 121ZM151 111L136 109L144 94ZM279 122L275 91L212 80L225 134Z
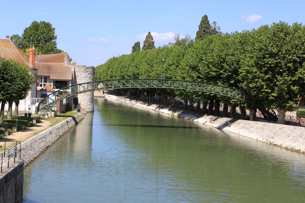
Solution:
M0 176L0 202L22 202L23 161Z

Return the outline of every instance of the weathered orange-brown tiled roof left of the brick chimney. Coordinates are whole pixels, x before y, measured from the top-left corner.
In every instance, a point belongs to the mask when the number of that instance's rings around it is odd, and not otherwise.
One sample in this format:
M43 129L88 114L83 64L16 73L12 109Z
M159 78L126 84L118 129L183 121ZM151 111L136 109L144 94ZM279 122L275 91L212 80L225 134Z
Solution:
M29 59L8 38L0 38L0 56L6 59L13 59L17 63L30 67Z

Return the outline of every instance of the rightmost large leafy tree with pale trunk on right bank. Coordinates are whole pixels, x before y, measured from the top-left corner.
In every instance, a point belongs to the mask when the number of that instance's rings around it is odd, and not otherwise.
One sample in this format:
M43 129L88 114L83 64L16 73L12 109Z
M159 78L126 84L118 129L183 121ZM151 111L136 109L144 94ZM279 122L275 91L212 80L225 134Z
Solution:
M240 36L245 47L241 86L265 107L278 109L279 124L285 123L286 111L295 109L298 95L305 94L304 33L302 24L280 21Z

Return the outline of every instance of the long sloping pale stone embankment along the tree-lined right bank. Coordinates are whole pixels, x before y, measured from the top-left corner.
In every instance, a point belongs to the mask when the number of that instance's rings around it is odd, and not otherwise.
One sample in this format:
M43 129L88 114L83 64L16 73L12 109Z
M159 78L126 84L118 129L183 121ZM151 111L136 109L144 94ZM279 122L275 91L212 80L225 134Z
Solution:
M144 102L130 101L127 98L114 95L107 95L105 98L178 116L231 133L263 141L268 144L305 152L305 127L223 118L218 116L203 116L196 112L158 105L147 105Z

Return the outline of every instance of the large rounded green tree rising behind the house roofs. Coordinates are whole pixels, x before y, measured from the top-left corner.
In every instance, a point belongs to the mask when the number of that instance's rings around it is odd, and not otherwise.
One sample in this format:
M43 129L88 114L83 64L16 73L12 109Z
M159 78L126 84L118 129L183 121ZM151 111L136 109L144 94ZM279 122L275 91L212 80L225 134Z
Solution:
M29 27L23 30L22 49L27 49L31 42L35 45L36 50L41 51L42 54L52 54L56 49L56 39L55 28L52 24L45 21L33 21Z

